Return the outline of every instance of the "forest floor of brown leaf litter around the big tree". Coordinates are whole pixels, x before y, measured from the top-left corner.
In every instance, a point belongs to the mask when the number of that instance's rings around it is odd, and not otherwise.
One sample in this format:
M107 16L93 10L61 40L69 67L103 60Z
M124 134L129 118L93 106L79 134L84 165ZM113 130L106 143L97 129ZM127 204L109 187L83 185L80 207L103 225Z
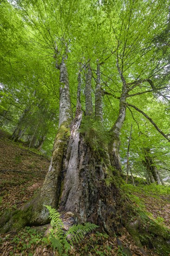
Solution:
M42 186L50 164L36 150L29 150L23 143L15 143L9 135L0 131L0 214L6 209L15 210L31 198ZM138 180L137 180L138 182ZM136 207L149 213L150 218L170 228L170 193L163 186L150 187L127 184L131 201ZM170 190L170 188L169 188ZM170 192L170 191L169 191ZM46 229L46 227L45 227ZM18 234L7 233L0 237L0 255L16 256L52 256L58 255L50 245L43 241L43 235L36 227L26 227ZM130 252L127 252L127 249ZM145 248L147 255L157 255L154 249ZM126 229L121 236L109 237L94 231L85 237L82 243L72 248L69 255L75 256L138 256L143 255L135 245Z

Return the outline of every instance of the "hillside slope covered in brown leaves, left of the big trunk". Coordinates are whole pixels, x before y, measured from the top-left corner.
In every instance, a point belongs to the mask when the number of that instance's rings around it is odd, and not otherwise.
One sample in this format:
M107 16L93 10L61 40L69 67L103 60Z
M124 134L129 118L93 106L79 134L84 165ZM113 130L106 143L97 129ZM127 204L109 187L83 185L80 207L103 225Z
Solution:
M0 213L26 202L44 181L50 160L0 131Z

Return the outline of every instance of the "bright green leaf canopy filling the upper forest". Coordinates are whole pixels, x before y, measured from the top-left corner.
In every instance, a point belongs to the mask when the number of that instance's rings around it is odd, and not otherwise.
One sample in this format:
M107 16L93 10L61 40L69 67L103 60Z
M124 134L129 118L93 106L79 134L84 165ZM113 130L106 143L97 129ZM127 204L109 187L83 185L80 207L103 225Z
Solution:
M103 127L85 121L81 126L91 147L97 151L107 142L107 131L118 118L122 81L117 62L127 83L150 78L133 88L127 102L149 115L169 136L169 2L157 0L22 0L0 2L0 126L10 133L26 109L22 123L27 135L37 141L46 135L43 150L51 155L58 129L59 71L68 45L66 61L72 109L75 110L79 63L92 67L92 89L96 85L96 60L103 63ZM85 71L82 68L81 104L85 109ZM92 94L94 103L94 93ZM168 177L168 142L142 114L127 108L121 129L121 160L124 164L128 135L133 124L130 164L135 175L145 175L141 146L150 147L162 178ZM87 131L85 131L87 127ZM135 169L137 171L135 171ZM139 174L138 174L139 173Z

